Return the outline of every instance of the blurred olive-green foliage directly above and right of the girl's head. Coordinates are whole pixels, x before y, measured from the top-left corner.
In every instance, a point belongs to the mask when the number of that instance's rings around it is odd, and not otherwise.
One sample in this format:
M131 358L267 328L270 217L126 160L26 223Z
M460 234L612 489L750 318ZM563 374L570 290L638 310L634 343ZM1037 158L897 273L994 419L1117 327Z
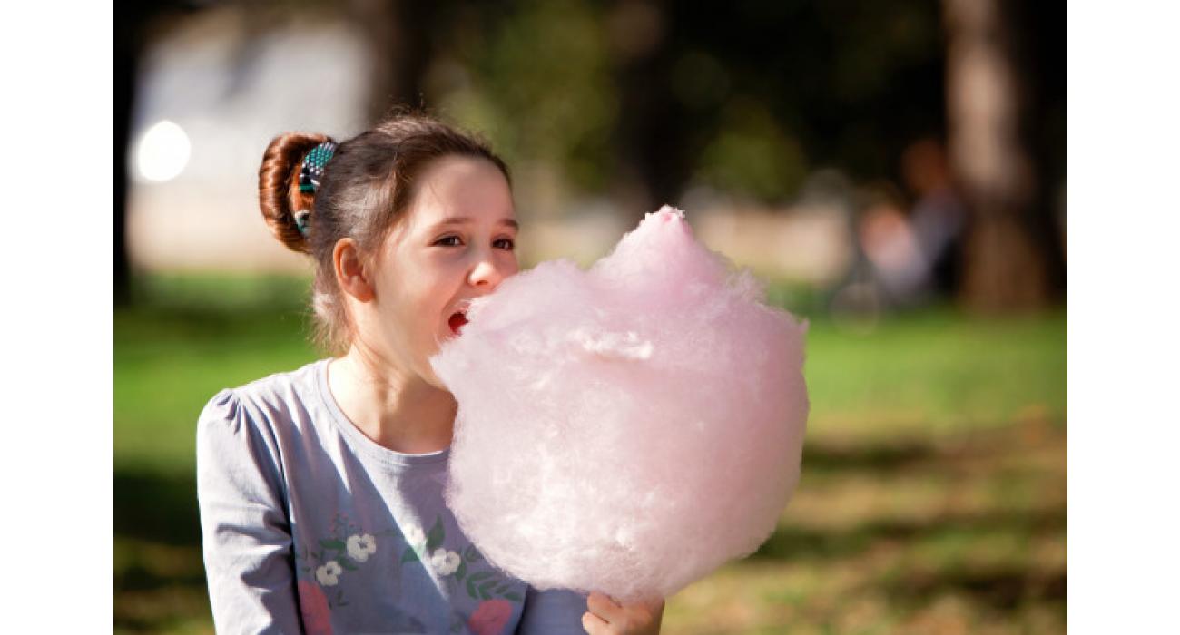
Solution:
M446 114L489 136L540 214L553 190L609 181L618 92L602 12L585 0L470 2L450 20L428 83Z

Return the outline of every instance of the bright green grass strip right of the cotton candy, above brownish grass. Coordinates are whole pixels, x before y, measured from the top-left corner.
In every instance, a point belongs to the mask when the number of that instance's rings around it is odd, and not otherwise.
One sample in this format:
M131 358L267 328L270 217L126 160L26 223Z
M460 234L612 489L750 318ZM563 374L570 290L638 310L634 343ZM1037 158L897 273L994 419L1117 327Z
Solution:
M970 319L949 308L867 334L815 321L806 377L812 431L859 440L940 434L1020 417L1066 419L1066 314Z

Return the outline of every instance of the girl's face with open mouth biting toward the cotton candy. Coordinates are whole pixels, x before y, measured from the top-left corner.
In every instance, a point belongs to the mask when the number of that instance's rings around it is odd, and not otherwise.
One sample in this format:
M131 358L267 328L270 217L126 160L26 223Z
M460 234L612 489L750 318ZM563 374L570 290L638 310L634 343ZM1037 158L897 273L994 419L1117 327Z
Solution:
M458 336L452 316L519 270L512 191L500 170L474 157L442 157L419 174L407 214L374 261L373 307L382 353L445 388L430 366Z

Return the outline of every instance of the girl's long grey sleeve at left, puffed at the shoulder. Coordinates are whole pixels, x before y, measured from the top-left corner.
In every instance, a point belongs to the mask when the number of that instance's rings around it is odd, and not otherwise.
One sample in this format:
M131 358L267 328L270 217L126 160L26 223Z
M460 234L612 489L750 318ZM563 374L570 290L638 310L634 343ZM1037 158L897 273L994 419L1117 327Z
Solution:
M197 500L217 633L300 633L278 449L230 389L197 423Z

